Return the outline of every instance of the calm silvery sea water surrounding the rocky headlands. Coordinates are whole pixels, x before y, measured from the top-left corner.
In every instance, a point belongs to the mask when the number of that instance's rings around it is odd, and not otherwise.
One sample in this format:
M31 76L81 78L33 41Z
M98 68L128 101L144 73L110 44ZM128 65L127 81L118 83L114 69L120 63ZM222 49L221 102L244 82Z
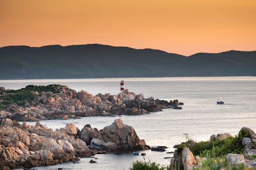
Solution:
M92 94L117 94L121 79L55 79L55 80L0 80L0 86L19 89L29 84L61 84L77 91L86 90ZM81 129L90 124L102 129L122 118L123 122L135 128L140 139L145 139L151 146L165 145L167 151L174 151L173 146L185 141L186 135L197 141L209 140L216 133L238 134L242 127L256 131L256 77L214 77L214 78L124 78L125 88L145 98L178 99L185 105L182 110L165 109L139 116L117 117L82 117L81 119L45 120L41 124L56 129L74 122ZM225 102L217 105L217 100ZM132 153L123 155L96 155L97 163L89 161L94 158L82 158L78 164L63 163L33 169L129 169L135 160L156 161L162 165L169 164L173 156L166 152L143 151L145 157Z

